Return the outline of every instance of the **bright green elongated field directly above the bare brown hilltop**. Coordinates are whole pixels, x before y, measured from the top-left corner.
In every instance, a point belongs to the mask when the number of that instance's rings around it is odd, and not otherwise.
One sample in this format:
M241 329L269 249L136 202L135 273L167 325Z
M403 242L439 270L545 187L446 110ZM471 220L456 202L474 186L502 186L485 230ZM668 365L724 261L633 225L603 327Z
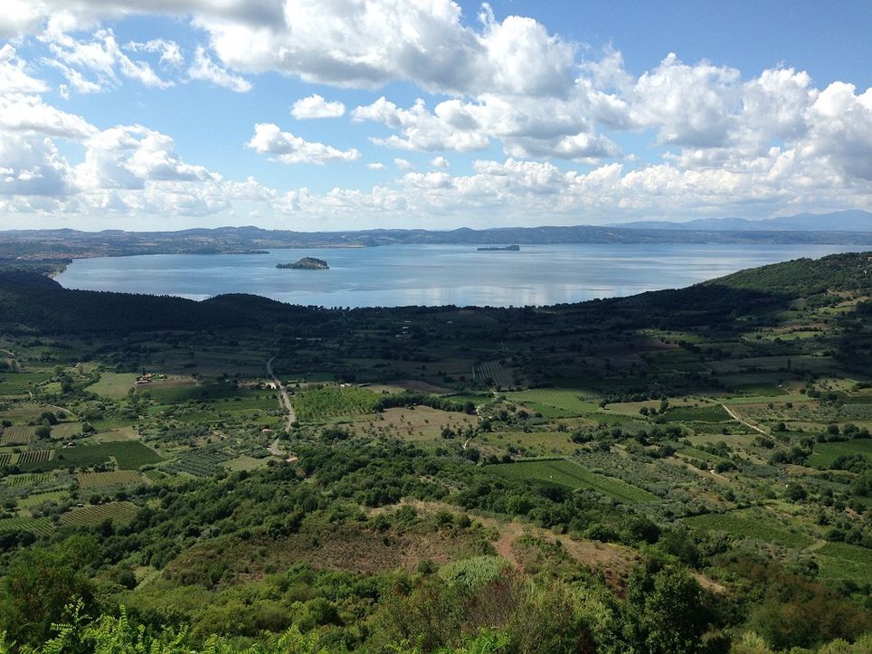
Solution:
M599 475L573 461L539 460L501 463L488 469L509 479L530 479L566 488L588 488L621 502L656 502L659 498L647 490L630 486L621 479Z

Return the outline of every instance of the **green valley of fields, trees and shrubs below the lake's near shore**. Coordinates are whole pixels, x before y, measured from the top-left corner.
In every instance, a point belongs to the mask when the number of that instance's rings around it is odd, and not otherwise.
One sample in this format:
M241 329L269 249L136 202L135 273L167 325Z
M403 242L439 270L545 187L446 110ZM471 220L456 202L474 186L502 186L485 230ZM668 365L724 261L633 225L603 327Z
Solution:
M0 271L0 652L869 651L870 270L356 310Z

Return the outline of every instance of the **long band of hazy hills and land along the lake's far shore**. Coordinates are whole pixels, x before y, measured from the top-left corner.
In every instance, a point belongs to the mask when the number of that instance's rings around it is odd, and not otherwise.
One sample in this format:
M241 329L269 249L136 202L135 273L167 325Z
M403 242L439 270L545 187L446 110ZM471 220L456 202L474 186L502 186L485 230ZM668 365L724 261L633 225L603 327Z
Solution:
M4 261L68 261L133 254L263 252L280 248L365 248L385 245L506 246L549 243L838 244L872 246L872 213L851 210L772 220L705 219L690 223L625 223L611 226L500 227L473 230L380 229L294 232L260 227L217 227L178 232L0 232Z

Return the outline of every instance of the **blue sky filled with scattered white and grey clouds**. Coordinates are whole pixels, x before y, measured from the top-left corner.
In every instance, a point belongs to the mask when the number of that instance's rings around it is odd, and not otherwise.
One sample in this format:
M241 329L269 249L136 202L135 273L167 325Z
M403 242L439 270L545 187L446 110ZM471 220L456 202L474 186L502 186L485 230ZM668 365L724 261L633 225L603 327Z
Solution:
M3 5L0 229L872 210L867 0Z

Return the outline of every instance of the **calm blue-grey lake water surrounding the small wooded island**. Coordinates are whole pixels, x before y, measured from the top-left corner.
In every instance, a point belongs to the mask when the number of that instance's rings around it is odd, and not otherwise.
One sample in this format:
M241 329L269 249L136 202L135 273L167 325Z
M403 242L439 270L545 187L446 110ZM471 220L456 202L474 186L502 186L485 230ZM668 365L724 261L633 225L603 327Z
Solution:
M856 249L856 248L855 248ZM80 259L56 279L68 289L206 299L251 293L325 307L551 305L676 289L735 270L850 251L839 245L393 245L269 254L152 254ZM280 270L301 257L330 270Z

